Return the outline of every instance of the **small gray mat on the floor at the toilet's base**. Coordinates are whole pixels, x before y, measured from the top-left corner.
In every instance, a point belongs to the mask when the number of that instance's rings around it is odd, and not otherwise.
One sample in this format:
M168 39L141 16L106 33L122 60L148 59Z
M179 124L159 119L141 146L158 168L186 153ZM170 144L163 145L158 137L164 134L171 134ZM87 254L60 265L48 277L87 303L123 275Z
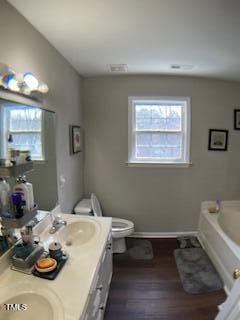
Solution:
M151 260L153 258L152 244L145 239L126 239L127 251L118 253L118 259L133 259L133 260Z

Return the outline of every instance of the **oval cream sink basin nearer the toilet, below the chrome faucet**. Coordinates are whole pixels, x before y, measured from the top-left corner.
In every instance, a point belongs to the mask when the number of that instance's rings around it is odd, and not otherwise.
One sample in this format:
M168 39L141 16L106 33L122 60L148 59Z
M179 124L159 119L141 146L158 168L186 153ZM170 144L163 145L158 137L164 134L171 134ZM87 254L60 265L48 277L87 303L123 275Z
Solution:
M98 228L95 221L75 221L61 228L57 235L60 242L67 246L81 246L95 237Z

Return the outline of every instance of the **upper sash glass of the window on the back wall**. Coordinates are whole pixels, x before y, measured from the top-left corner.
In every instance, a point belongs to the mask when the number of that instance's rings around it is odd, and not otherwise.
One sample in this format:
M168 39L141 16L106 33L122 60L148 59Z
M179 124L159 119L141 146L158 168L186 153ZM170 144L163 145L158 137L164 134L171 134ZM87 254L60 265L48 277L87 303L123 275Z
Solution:
M181 105L135 105L136 129L181 130Z

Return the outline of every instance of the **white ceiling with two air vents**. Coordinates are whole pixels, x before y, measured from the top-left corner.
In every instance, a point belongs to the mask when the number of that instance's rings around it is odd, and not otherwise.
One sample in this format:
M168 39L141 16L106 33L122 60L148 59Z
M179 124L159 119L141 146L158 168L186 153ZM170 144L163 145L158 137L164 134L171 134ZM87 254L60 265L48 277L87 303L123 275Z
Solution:
M127 64L129 74L240 80L239 0L9 2L83 76Z

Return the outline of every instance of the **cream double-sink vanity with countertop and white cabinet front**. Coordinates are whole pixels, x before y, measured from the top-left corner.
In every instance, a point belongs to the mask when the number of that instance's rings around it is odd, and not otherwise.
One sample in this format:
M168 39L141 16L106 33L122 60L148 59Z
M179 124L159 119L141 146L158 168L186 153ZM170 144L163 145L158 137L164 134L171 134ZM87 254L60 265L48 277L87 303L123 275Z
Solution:
M45 249L56 241L69 255L55 280L13 271L9 267L10 253L1 257L0 320L103 319L112 272L111 218L61 216L66 225L54 233L52 215L34 228ZM103 270L107 274L103 275ZM98 292L99 281L101 291L105 286L104 295Z

